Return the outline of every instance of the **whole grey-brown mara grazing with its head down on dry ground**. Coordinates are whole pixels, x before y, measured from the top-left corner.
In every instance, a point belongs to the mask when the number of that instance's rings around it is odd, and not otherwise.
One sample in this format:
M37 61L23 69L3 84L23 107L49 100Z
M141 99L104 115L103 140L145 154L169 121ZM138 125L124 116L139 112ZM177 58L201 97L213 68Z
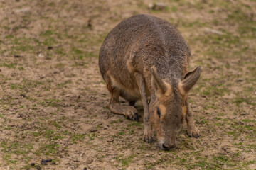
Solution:
M132 105L142 98L143 139L154 140L154 125L159 147L164 150L176 147L184 119L188 135L199 137L188 91L198 81L201 67L188 72L190 57L190 48L178 30L171 23L148 15L132 16L119 23L100 48L100 72L111 93L110 110L138 120ZM119 96L130 106L120 105Z

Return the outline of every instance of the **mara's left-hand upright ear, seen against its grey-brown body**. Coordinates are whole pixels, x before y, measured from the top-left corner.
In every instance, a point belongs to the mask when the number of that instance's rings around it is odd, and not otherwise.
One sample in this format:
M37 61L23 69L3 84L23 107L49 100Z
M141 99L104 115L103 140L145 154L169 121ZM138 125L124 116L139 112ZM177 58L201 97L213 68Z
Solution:
M156 67L151 67L151 84L155 91L159 94L164 94L167 91L166 82L162 80L156 72Z

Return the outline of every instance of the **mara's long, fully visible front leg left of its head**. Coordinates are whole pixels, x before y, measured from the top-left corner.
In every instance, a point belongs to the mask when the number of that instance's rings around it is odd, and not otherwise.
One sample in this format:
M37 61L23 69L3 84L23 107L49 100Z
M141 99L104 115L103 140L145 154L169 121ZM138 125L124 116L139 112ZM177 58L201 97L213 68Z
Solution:
M136 78L137 84L139 86L139 92L142 96L142 103L144 107L144 135L143 140L146 142L153 142L154 140L154 132L151 128L151 123L149 119L149 103L146 98L146 89L145 82L141 74L135 72L134 76Z

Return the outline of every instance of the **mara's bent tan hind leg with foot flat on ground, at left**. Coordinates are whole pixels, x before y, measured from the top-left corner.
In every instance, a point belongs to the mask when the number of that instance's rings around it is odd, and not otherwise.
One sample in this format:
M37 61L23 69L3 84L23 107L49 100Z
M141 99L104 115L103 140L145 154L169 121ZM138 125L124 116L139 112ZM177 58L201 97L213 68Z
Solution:
M106 77L107 78L107 77ZM134 106L122 106L119 104L120 90L112 86L111 79L105 78L107 89L110 91L110 111L115 114L124 115L126 118L131 120L139 120L137 116L137 110Z

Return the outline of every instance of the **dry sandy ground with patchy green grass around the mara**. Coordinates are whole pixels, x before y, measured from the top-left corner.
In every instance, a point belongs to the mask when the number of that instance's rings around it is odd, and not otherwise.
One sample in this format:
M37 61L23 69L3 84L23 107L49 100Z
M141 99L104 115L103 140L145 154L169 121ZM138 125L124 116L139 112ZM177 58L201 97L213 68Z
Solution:
M256 169L256 1L0 0L0 169ZM161 151L114 115L98 64L124 18L170 21L203 72L190 94L201 137ZM126 103L123 103L126 104Z

